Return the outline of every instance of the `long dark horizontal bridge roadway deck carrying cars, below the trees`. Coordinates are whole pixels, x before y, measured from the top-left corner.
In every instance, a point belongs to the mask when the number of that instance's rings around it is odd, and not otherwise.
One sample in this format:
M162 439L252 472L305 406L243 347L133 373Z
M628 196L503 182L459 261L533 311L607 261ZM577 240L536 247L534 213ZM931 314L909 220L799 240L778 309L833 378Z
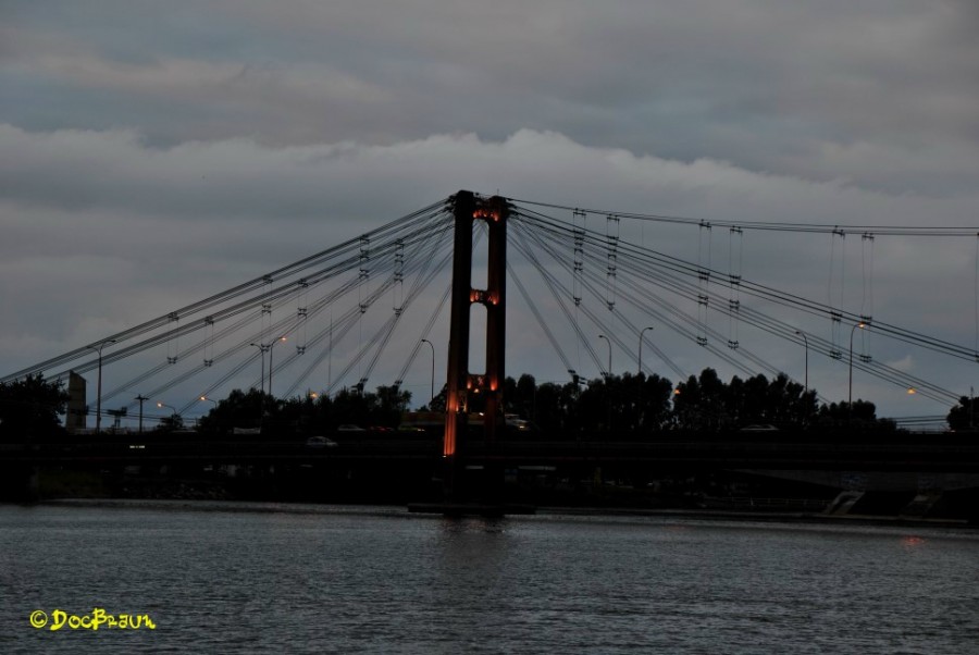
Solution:
M441 459L436 438L340 437L336 445L305 441L172 441L157 435L113 442L0 444L0 464L13 466L164 464L409 465ZM332 437L331 437L332 438ZM501 441L470 442L467 465L650 466L671 469L877 470L979 472L979 440L888 443L817 443L778 438L683 440L654 442Z

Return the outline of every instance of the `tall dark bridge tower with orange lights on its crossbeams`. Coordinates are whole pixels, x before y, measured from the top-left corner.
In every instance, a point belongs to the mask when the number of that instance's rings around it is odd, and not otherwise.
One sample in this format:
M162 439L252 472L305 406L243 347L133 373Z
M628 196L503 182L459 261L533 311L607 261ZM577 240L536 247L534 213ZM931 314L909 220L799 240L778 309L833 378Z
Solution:
M455 245L453 254L453 296L449 319L448 372L446 374L445 487L449 498L464 493L466 442L469 431L470 400L482 395L484 440L492 445L505 425L503 388L506 344L506 265L507 217L509 206L504 198L479 198L461 190L454 197ZM485 289L472 287L472 232L476 221L488 228L487 275ZM486 308L486 370L469 371L470 312L473 304ZM493 485L499 471L484 471Z

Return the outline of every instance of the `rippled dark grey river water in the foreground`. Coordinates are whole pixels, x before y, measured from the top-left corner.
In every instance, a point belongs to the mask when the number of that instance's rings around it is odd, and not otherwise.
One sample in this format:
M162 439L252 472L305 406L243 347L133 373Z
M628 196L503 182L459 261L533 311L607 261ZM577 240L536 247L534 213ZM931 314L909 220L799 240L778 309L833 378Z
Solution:
M0 653L961 655L977 571L967 529L8 505ZM95 608L156 629L65 618Z

